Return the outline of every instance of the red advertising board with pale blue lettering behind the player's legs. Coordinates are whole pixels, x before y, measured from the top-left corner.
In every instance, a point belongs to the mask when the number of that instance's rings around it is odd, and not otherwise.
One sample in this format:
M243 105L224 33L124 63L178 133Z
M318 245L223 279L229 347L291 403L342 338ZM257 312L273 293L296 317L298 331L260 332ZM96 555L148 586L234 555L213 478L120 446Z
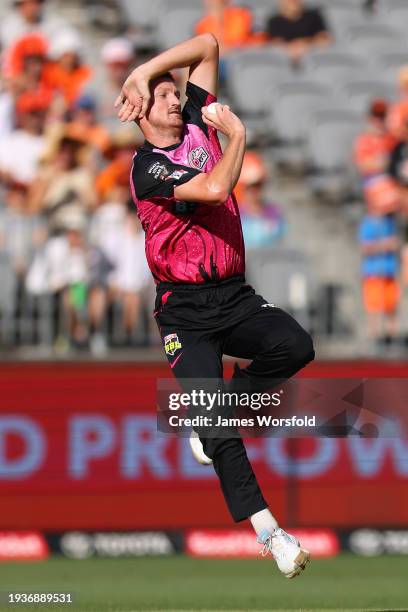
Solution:
M355 364L337 367L344 377L364 375ZM0 370L0 529L231 525L213 468L195 462L188 439L157 435L157 379L168 376L166 364ZM333 374L328 365L315 371ZM408 367L397 372L408 377ZM406 439L261 437L248 440L247 451L283 525L408 524Z

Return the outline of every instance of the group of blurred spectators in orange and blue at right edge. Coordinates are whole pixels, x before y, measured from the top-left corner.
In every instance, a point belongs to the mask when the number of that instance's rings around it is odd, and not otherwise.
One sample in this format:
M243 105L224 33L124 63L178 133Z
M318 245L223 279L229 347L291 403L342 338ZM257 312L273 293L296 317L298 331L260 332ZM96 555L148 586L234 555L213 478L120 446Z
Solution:
M363 298L369 337L399 334L398 309L408 280L408 68L399 74L400 99L374 100L355 141L366 211L359 228Z

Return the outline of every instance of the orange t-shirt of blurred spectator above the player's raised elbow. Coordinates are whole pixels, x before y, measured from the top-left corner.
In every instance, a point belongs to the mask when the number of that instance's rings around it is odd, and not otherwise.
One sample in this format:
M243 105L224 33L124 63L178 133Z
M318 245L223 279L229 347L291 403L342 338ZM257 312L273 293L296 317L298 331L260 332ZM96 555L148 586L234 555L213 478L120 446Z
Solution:
M224 9L222 19L206 15L196 25L197 34L214 34L225 49L252 42L251 12L239 6Z

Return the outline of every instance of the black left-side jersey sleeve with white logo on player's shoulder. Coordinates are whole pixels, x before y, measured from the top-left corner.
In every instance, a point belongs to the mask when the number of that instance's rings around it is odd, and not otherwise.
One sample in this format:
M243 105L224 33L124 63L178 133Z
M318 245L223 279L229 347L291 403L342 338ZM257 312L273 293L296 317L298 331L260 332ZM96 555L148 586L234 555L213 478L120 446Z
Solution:
M174 199L174 188L200 174L199 170L174 164L165 155L152 153L136 157L131 181L138 200Z

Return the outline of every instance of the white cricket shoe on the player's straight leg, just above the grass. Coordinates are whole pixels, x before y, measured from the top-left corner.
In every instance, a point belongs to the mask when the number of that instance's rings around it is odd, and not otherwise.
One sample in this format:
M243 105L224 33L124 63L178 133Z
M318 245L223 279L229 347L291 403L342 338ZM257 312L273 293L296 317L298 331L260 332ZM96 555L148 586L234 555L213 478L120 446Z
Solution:
M280 527L272 533L264 529L256 540L263 544L260 554L263 557L271 554L286 578L298 576L310 561L309 551L301 548L298 540Z

